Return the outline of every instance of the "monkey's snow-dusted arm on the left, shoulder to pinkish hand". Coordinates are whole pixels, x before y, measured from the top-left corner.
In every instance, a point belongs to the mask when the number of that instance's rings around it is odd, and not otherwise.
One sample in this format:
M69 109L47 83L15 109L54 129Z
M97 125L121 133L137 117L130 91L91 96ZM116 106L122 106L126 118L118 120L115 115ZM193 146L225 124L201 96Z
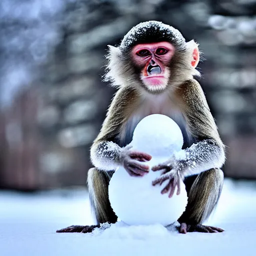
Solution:
M90 149L91 162L95 167L113 170L122 164L130 175L143 175L148 170L146 165L139 164L136 160L150 160L150 155L134 152L129 146L120 147L115 143L137 102L137 92L132 88L121 88L115 94L101 130Z

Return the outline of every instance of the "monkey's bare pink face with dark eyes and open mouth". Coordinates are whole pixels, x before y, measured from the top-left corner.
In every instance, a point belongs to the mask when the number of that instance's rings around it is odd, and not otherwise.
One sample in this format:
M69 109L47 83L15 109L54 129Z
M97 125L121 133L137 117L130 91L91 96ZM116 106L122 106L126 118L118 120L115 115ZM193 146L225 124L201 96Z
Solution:
M140 79L151 92L160 92L168 84L169 63L174 54L169 42L143 43L131 50L134 65L140 70Z

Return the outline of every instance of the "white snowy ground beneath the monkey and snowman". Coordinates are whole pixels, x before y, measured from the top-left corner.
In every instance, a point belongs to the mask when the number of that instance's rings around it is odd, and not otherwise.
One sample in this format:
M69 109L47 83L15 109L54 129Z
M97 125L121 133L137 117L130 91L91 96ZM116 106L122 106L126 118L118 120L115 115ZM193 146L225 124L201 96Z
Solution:
M64 193L64 196L63 196ZM55 233L91 224L85 190L0 193L0 255L255 255L256 183L226 179L208 224L223 233L178 234L160 225L123 226L94 234Z

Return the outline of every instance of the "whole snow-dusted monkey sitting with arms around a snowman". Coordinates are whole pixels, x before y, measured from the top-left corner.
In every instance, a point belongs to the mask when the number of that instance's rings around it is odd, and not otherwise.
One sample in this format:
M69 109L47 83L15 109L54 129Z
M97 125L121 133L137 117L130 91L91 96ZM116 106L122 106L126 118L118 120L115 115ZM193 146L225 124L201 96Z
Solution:
M128 31L118 47L109 46L107 59L105 80L118 90L90 151L95 167L88 171L87 184L97 225L69 226L57 232L91 232L100 223L116 222L108 183L118 165L132 176L149 171L146 161L151 156L128 145L137 123L149 114L169 116L183 134L185 158L170 155L169 160L152 167L161 172L152 185L169 181L161 193L171 197L176 187L179 193L180 179L186 185L188 203L178 219L179 232L222 232L202 224L222 190L220 168L225 153L202 88L193 78L200 75L195 69L198 44L186 42L172 26L147 21Z

